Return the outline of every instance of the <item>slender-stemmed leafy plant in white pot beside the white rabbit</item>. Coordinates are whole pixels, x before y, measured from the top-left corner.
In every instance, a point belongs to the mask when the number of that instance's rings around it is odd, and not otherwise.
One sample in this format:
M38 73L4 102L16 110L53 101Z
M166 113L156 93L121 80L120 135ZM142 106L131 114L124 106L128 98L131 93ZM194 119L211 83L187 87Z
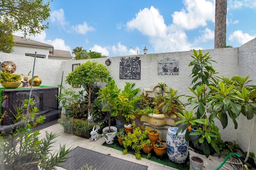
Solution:
M116 99L120 93L115 81L109 77L106 87L101 88L98 94L98 100L101 101L103 108L102 111L107 112L108 115L108 127L103 128L104 137L107 144L112 144L114 142L114 137L116 136L117 128L111 126L111 117L116 117Z

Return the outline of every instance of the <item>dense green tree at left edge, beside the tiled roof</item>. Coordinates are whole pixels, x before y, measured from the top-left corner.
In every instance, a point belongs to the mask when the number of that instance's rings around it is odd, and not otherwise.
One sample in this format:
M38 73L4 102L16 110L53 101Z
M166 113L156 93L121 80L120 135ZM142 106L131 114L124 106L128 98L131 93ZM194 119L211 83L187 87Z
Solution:
M0 21L0 51L10 53L13 45L12 24Z

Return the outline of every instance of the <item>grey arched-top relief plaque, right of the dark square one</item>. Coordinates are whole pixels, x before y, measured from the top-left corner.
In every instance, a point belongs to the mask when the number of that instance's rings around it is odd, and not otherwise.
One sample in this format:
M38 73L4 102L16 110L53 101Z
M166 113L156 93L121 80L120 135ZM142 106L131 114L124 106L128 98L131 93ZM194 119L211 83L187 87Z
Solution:
M158 75L179 75L179 61L168 57L158 61Z

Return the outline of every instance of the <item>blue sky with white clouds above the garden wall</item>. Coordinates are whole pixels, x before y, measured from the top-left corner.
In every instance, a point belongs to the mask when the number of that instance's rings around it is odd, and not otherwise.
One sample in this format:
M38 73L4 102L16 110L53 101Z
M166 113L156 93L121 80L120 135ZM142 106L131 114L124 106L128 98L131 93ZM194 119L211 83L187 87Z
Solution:
M214 48L215 0L53 0L35 41L110 57ZM256 37L256 0L227 0L226 44ZM15 35L22 36L17 32Z

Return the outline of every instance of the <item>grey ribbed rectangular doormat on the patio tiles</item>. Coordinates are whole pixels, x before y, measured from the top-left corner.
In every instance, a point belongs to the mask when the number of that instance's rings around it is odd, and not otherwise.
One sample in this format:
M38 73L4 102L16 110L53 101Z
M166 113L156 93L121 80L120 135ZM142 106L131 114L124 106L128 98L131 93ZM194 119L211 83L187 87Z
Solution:
M68 160L63 162L60 166L67 170L78 170L86 164L89 167L92 166L93 169L96 168L96 170L120 170L120 165L128 170L148 169L148 166L81 148L79 146L71 150L66 157L68 157Z

